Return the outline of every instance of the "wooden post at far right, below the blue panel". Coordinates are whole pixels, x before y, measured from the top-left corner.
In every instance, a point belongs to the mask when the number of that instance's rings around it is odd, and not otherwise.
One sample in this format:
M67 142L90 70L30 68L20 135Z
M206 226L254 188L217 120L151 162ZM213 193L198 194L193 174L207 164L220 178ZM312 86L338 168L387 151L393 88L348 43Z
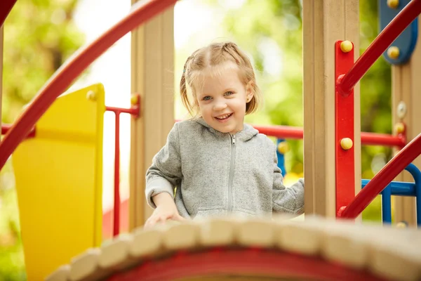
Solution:
M418 18L418 30L421 27L421 17ZM418 35L419 37L420 35ZM392 65L392 126L397 122L406 124L407 141L412 140L421 132L421 46L418 38L415 50L404 65ZM406 115L400 119L397 115L399 103L405 103ZM413 162L418 169L421 169L421 157L417 157ZM396 181L413 182L413 177L404 171ZM406 221L410 226L416 226L415 198L396 196L395 221Z

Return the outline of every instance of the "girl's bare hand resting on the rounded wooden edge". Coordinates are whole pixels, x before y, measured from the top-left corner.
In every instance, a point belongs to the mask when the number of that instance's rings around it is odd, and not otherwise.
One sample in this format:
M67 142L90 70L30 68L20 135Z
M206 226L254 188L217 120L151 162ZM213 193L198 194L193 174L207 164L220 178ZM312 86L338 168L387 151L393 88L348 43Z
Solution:
M144 228L152 228L156 223L165 223L167 220L185 221L185 218L178 214L174 200L166 192L159 193L153 197L156 209L147 219Z

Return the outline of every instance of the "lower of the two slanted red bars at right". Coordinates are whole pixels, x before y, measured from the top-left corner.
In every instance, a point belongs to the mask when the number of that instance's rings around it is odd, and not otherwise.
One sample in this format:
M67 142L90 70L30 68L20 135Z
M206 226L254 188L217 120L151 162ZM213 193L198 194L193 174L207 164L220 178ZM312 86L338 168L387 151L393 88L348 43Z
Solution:
M379 195L386 186L403 171L403 169L413 162L415 158L421 155L421 133L414 138L408 145L399 151L395 157L392 158L381 169L371 181L369 181L363 190L352 200L352 202L342 211L340 217L342 218L356 218L361 212L366 209L368 204Z

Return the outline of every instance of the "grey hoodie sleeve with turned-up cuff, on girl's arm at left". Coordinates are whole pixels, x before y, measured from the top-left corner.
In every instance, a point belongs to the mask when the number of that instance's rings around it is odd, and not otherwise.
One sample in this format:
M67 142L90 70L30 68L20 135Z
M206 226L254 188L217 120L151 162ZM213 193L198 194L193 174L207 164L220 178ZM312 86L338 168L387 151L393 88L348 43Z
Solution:
M152 197L161 192L174 196L175 185L180 183L182 177L180 146L178 139L178 124L168 134L166 144L152 159L152 165L146 172L145 194L147 204L156 208Z

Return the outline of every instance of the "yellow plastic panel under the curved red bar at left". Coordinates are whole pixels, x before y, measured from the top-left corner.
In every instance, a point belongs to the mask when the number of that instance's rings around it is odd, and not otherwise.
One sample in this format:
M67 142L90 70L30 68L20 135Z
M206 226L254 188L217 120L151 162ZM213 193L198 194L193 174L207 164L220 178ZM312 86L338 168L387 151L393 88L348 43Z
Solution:
M101 243L101 84L60 96L12 156L28 280Z

